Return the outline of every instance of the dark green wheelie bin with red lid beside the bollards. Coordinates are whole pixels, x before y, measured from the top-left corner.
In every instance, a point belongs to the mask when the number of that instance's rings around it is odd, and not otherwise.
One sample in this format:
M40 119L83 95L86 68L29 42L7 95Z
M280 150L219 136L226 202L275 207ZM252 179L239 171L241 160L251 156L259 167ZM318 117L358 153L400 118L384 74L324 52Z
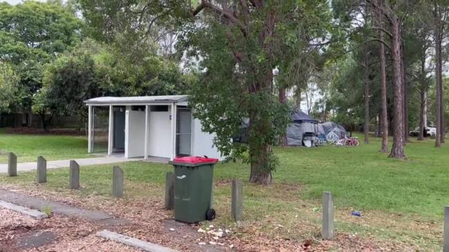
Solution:
M174 220L194 223L213 220L211 209L214 164L208 157L176 157L174 166Z

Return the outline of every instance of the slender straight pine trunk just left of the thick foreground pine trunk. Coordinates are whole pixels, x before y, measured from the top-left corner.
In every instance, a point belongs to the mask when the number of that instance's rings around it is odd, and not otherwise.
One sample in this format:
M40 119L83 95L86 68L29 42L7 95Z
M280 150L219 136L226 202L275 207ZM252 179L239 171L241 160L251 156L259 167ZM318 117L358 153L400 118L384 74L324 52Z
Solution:
M378 3L381 3L379 1ZM377 22L380 28L383 27L382 14L378 12ZM378 36L381 41L384 40L383 31L378 30ZM381 72L381 130L382 130L382 144L381 152L388 153L388 111L387 111L387 74L385 70L385 46L383 43L379 43L379 61Z

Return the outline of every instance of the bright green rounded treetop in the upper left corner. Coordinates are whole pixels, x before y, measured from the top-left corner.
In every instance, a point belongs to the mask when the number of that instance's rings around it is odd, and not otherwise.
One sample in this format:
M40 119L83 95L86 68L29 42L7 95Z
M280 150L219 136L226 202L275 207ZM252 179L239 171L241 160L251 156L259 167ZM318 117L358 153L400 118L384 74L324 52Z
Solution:
M74 46L82 36L81 19L68 12L63 6L52 3L25 1L16 6L2 3L0 6L0 31L3 37L14 39L19 46L26 46L26 58L35 55L55 55ZM8 48L10 44L3 44ZM2 50L3 51L3 50ZM1 53L2 59L8 56ZM24 58L10 58L18 63Z

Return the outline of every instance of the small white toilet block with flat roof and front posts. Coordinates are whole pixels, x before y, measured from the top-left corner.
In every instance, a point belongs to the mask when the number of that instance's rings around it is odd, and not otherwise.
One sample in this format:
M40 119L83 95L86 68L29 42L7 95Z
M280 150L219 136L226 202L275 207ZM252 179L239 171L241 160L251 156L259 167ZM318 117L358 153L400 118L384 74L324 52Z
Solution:
M124 153L127 158L169 160L206 155L221 159L217 148L212 146L214 135L201 130L201 122L192 117L187 99L187 95L164 95L98 97L84 101L89 106L89 153L94 152L94 140L100 139L103 133L108 155ZM97 118L100 110L107 122L96 126L95 123L100 124ZM101 127L104 130L99 130Z

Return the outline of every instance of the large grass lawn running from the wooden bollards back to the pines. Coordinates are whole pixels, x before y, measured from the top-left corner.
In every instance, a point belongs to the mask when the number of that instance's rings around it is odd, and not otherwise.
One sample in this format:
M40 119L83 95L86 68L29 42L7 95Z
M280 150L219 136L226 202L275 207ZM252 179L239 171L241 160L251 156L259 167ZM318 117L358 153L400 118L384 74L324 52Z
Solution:
M267 235L279 235L276 225L281 224L290 230L282 234L288 239L317 236L322 191L331 191L338 210L338 231L425 246L430 251L439 250L443 206L449 204L449 144L437 149L431 139L424 142L412 139L405 150L407 160L396 160L378 153L380 139L372 138L371 141L356 148L275 148L280 166L270 186L249 184L247 164L217 164L214 171L217 222L232 225L230 180L238 178L245 182L244 223ZM84 146L85 143L83 150ZM0 145L0 148L4 147ZM57 149L51 144L48 148L49 152ZM30 150L33 155L37 153L35 149L23 148L24 153ZM69 150L62 155L73 157ZM163 199L165 173L172 171L172 166L147 162L129 162L120 166L125 171L125 194L129 200L134 197ZM67 168L49 170L48 173L48 183L39 188L73 193L67 188ZM76 194L79 197L99 195L105 200L113 200L110 197L111 177L111 165L82 167L82 189ZM12 178L0 176L1 184L34 186L34 180L35 173L20 173L19 177ZM351 217L351 210L363 211L365 217Z

